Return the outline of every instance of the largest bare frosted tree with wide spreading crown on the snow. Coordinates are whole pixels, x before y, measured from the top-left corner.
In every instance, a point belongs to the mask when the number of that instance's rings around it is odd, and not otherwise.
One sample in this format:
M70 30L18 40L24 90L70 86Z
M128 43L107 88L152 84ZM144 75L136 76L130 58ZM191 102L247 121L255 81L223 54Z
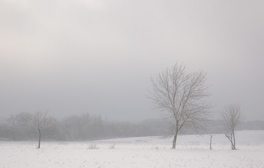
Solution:
M173 149L182 128L205 128L210 108L204 103L208 97L205 82L204 71L187 73L185 66L178 63L152 78L153 91L149 98L156 108L165 111L164 118L172 121L169 134L173 134Z

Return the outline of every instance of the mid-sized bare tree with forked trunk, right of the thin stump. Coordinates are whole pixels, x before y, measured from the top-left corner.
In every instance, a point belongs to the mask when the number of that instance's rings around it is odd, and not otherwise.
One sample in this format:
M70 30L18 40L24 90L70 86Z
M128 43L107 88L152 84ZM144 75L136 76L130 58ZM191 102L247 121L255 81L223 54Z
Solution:
M240 110L240 104L229 104L221 112L221 123L224 125L226 138L231 143L232 150L236 148L235 129L237 125L243 120L243 115Z

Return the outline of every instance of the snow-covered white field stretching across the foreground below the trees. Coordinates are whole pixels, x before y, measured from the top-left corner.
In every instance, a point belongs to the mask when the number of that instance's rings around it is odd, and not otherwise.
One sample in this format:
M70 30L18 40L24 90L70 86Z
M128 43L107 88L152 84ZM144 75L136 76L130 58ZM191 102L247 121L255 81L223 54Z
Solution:
M7 167L264 167L264 131L240 131L237 151L223 134L160 136L88 142L0 142L0 168ZM92 147L96 149L91 149Z

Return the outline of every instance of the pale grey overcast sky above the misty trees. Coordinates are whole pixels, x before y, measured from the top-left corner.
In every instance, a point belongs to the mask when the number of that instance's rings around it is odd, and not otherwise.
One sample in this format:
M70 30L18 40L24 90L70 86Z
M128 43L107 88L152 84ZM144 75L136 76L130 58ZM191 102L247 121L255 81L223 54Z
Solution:
M264 1L0 0L0 116L160 117L150 77L203 69L209 101L264 120Z

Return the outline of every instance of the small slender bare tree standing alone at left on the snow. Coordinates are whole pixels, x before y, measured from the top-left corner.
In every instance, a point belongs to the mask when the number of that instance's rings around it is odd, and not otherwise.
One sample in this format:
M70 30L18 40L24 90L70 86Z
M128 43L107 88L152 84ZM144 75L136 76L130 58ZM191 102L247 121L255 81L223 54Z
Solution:
M47 125L47 111L38 111L34 116L34 125L38 129L38 149L40 148L41 131Z

